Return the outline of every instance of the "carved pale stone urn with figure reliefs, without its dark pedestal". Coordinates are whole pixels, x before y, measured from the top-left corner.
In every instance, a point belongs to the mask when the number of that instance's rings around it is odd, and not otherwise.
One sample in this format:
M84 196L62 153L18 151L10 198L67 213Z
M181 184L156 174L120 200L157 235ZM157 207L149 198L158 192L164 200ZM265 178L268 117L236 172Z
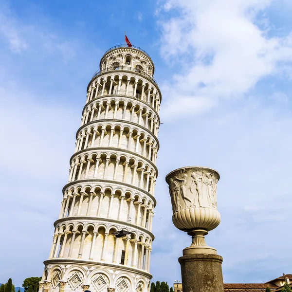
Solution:
M216 170L202 166L178 168L165 178L169 185L172 222L193 239L183 255L217 255L215 248L206 245L204 236L220 223L217 210L219 178Z

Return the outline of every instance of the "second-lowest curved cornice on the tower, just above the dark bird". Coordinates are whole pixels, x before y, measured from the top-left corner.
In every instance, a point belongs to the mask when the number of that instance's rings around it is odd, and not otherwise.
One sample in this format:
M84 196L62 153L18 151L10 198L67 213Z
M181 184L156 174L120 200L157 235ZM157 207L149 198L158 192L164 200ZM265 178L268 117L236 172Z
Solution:
M128 226L130 229L137 229L140 230L142 233L145 233L147 235L149 235L152 239L152 241L155 239L153 233L151 233L149 230L147 230L146 228L143 228L139 225L127 222L127 221L122 221L122 220L116 220L116 219L110 219L110 218L103 218L103 217L92 217L92 216L71 216L71 217L65 217L65 218L61 218L61 219L57 219L54 222L54 227L56 227L59 223L62 222L66 222L66 221L87 221L87 220L91 220L91 221L106 221L106 222L110 222L110 223L114 223L117 225L123 225L123 226Z

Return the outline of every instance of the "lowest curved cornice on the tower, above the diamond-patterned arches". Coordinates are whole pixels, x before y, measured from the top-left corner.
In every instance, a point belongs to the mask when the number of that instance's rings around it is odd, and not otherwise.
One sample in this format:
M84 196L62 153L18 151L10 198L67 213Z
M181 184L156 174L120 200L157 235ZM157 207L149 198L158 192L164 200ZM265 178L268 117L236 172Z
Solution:
M124 266L120 264L114 264L114 263L107 263L107 262L97 262L97 261L90 261L90 260L83 260L83 259L71 259L71 258L53 258L53 259L47 259L44 261L45 265L49 264L73 264L73 265L86 265L86 266L91 266L91 267L107 267L110 269L116 269L119 271L127 271L130 273L136 273L145 276L148 279L152 279L152 275L148 272L145 272L144 270L129 267L129 266Z

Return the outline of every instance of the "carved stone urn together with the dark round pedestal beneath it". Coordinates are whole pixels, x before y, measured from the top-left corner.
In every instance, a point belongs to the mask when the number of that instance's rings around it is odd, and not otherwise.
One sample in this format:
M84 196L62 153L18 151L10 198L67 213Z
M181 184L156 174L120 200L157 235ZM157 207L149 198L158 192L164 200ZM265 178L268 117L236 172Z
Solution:
M166 176L172 221L192 236L179 258L183 292L223 292L222 257L205 243L205 235L220 223L217 210L219 173L208 167L187 166Z

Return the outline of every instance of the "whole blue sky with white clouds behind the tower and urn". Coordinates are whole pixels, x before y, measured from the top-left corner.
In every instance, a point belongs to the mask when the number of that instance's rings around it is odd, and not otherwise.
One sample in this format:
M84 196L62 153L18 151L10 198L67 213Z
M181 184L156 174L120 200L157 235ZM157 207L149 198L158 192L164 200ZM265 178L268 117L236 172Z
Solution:
M181 279L190 238L172 224L164 177L186 165L221 176L206 242L224 282L292 273L291 13L289 0L1 0L0 282L42 274L86 87L124 31L163 95L153 279Z

